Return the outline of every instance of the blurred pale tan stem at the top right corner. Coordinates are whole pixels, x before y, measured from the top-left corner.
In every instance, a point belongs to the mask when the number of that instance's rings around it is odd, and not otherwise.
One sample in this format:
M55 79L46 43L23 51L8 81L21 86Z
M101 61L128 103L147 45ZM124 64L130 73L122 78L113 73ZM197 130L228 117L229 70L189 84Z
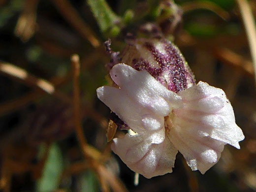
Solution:
M247 0L237 0L243 22L245 25L246 34L249 41L250 51L254 64L255 81L256 81L256 25L252 10Z

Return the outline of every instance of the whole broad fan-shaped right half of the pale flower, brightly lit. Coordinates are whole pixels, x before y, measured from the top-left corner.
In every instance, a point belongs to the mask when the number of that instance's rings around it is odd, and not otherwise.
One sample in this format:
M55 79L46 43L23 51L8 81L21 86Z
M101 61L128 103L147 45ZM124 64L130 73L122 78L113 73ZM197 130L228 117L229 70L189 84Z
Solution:
M184 105L172 110L168 137L192 170L204 173L219 160L226 143L240 148L244 135L223 90L199 82L179 95Z

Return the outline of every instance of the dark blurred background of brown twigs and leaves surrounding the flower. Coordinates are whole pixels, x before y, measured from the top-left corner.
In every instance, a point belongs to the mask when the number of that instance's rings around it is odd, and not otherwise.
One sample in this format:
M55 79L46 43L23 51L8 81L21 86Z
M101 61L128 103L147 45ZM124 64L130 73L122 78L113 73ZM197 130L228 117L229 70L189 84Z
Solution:
M256 191L255 72L243 24L250 12L256 17L256 1L175 3L0 0L1 191ZM180 48L197 81L225 91L245 140L240 150L226 145L204 175L178 154L173 173L140 176L135 186L107 143L110 110L96 88L107 85L104 41L122 51L127 33L156 32Z

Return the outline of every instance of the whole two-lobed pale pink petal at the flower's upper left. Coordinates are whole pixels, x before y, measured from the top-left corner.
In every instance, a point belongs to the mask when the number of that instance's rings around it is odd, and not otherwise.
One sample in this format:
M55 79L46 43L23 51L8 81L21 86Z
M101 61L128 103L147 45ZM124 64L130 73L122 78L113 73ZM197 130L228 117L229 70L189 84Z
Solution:
M103 86L97 89L104 102L133 131L148 135L153 143L164 139L164 115L170 113L169 101L181 97L164 88L147 71L137 71L126 64L117 64L110 71L120 89ZM136 82L136 83L134 83ZM164 99L168 98L168 102ZM177 102L179 102L177 101ZM155 131L162 129L160 133Z

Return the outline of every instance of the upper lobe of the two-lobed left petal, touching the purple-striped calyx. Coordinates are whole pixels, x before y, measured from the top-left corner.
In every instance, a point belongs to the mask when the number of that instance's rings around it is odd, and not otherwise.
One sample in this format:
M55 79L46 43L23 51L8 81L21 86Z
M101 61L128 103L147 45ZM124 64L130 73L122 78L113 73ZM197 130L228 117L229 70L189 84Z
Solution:
M168 103L171 103L170 106L181 103L180 96L167 90L147 71L137 71L127 64L116 64L110 75L130 98L160 116L170 113Z

